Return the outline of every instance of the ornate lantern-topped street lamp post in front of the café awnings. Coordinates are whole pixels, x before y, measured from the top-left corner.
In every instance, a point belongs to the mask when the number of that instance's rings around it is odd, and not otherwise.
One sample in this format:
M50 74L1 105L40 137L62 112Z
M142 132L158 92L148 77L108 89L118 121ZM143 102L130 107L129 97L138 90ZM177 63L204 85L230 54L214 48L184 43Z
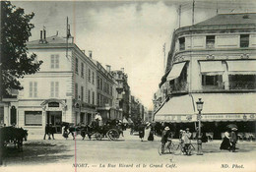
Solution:
M197 103L197 110L198 110L198 116L197 116L197 120L198 120L198 138L197 138L197 155L203 155L203 151L202 151L202 137L201 137L201 111L203 110L203 104L204 101L201 101L202 98L198 98Z

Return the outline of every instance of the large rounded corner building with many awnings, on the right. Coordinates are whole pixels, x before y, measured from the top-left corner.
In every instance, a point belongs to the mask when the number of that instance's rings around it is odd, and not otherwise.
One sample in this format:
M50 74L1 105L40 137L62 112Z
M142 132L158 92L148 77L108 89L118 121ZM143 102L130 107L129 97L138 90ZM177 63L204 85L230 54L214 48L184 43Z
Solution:
M251 13L220 14L173 32L160 83L167 85L169 99L155 121L194 129L202 98L203 131L221 138L225 126L235 123L238 132L255 133L255 20Z

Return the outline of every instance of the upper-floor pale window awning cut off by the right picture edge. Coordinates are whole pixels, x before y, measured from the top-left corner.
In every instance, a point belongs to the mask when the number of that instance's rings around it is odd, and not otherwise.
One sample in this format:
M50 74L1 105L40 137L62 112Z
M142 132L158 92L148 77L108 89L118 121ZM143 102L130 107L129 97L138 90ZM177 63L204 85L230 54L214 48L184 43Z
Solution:
M255 60L226 61L228 74L256 74Z

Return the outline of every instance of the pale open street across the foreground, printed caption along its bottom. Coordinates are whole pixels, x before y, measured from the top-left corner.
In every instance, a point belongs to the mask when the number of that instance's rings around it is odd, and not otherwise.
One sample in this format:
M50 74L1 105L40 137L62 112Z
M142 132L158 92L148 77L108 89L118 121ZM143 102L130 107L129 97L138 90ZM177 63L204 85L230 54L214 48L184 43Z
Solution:
M180 154L160 155L160 137L155 136L154 142L148 142L149 130L146 130L145 141L141 142L138 135L130 136L129 130L118 141L82 140L78 136L75 141L71 136L64 140L56 135L56 140L41 140L42 136L29 136L24 144L24 152L8 152L4 160L4 170L9 171L18 166L29 168L41 166L54 171L84 171L84 170L189 170L209 169L210 171L254 171L256 157L255 142L237 143L237 152L220 150L221 141L203 143L204 155L191 156ZM31 138L31 139L30 139ZM174 140L174 143L178 141ZM193 145L197 147L195 141ZM60 168L55 168L55 167ZM70 169L69 169L70 168ZM48 170L49 171L49 170Z

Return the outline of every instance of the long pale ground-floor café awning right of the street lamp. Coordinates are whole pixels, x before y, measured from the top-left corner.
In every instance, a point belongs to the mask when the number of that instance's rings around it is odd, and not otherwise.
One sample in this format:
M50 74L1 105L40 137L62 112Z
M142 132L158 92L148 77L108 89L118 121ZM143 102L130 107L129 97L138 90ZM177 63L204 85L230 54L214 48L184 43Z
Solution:
M202 121L255 121L256 93L192 93L204 101Z

